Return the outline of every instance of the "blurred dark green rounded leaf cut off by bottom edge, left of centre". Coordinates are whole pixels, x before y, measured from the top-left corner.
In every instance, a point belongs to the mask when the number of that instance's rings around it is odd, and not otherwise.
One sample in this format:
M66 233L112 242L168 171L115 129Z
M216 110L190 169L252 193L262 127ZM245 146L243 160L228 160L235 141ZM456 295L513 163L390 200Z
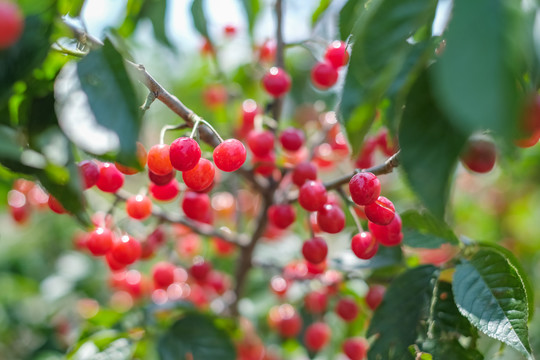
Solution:
M199 313L187 313L159 339L161 360L193 359L230 360L236 351L229 335L215 321Z

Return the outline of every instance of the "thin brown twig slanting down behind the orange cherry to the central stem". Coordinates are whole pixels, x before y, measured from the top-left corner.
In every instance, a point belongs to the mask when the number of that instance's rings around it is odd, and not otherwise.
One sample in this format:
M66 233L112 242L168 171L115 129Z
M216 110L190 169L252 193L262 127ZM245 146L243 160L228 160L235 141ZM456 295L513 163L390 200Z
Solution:
M114 195L116 196L115 202L127 201L127 199L132 196L132 194L128 193L125 190L119 190ZM231 244L235 244L239 247L246 246L247 244L248 239L242 235L231 234L231 233L219 230L212 225L208 225L205 223L187 219L184 216L181 216L180 214L166 213L156 206L152 207L152 216L156 217L157 219L161 221L168 222L171 224L184 225L199 235L218 237L220 239L223 239L224 241L227 241Z

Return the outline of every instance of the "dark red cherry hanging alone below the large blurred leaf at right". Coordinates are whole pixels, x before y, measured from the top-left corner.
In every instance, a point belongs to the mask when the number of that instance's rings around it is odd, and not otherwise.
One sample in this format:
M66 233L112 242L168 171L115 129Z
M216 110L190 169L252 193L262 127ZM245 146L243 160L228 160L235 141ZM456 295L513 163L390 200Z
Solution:
M487 137L471 137L461 153L461 162L465 167L477 173L487 173L495 166L497 149L495 143Z

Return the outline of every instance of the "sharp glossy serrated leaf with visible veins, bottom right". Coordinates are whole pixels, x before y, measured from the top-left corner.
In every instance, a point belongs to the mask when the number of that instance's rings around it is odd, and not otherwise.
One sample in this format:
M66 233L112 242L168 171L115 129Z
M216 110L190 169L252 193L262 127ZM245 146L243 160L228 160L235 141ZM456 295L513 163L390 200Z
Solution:
M527 295L508 259L481 249L456 267L452 289L459 311L484 334L532 359Z

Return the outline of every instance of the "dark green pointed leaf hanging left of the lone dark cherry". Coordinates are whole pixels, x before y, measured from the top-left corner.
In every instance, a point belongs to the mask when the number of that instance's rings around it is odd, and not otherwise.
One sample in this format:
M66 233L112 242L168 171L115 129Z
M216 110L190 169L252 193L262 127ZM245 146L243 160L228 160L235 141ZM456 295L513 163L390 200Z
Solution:
M442 219L451 176L467 136L456 131L437 107L428 72L418 78L407 97L398 137L400 161L413 191Z

